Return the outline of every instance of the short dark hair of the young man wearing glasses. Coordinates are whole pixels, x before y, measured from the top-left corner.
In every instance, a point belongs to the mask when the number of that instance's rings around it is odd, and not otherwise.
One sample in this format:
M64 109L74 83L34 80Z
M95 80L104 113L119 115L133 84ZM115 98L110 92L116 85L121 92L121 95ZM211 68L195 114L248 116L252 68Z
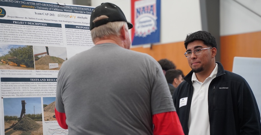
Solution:
M187 45L195 40L201 40L205 45L217 48L216 38L206 31L197 31L188 34L184 42L185 48L187 49Z

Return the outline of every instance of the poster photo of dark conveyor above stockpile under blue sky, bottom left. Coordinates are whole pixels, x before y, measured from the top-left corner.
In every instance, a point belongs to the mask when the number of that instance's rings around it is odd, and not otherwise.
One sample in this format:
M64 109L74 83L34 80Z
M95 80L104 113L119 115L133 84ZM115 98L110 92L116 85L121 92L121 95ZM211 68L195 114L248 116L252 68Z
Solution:
M3 98L5 134L43 134L41 98Z

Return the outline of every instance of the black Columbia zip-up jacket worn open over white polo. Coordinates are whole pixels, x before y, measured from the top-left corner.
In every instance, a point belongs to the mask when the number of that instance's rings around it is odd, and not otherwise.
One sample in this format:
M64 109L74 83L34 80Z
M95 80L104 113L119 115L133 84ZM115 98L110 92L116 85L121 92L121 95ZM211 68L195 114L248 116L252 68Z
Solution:
M210 135L260 135L260 113L253 92L246 80L218 65L217 76L208 87L208 114ZM193 86L193 72L187 74L174 91L176 107L184 134L188 134ZM187 105L179 107L180 99L187 97ZM200 129L199 129L200 130Z

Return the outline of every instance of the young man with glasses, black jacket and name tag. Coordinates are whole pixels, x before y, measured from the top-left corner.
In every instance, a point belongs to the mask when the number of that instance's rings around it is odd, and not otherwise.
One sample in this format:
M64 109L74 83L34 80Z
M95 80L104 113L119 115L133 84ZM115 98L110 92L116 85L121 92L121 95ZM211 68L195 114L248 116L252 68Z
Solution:
M215 38L205 31L187 35L190 73L174 91L173 102L186 135L261 134L260 113L244 78L215 61Z

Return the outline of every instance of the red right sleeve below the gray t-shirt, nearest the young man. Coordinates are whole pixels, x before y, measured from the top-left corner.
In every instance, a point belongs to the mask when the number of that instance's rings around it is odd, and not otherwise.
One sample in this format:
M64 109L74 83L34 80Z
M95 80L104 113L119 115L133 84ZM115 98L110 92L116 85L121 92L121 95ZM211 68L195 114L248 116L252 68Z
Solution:
M184 135L176 112L158 113L152 116L154 135Z

